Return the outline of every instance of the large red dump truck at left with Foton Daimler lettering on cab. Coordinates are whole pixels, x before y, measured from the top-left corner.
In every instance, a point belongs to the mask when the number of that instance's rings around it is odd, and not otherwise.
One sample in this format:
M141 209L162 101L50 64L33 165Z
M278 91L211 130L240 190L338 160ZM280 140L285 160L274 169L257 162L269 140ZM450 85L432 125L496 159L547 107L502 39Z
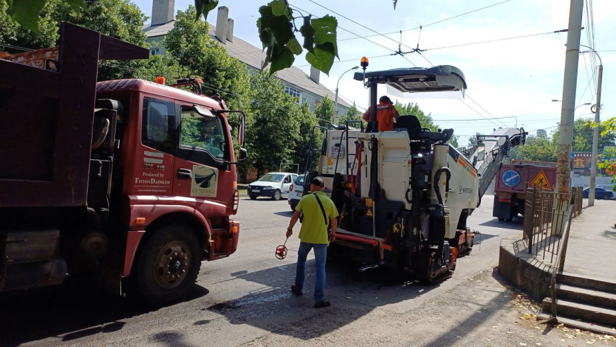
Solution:
M63 23L58 47L0 59L0 292L97 272L161 305L237 249L244 113L196 79L96 82L99 60L147 56Z

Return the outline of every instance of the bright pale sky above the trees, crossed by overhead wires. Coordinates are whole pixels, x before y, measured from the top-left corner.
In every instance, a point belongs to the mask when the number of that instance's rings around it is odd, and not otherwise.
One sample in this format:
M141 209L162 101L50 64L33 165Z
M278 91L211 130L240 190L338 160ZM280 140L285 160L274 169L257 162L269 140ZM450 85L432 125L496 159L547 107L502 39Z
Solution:
M152 0L134 2L151 15ZM219 6L229 8L235 36L260 47L258 8L267 2L221 0ZM585 8L581 44L590 46L594 36L593 44L604 65L601 119L615 117L616 1L584 2L592 13ZM175 9L185 10L192 3L193 0L177 0ZM562 98L567 34L553 32L568 27L569 0L398 0L395 10L390 0L289 0L289 4L303 15L332 15L338 19L340 60L334 62L329 76L321 75L320 82L333 91L340 78L340 98L349 103L355 102L360 108L368 105L368 91L361 82L352 79L352 72L342 75L359 65L362 56L370 57L368 69L372 71L448 64L466 76L464 100L399 101L417 103L442 128L453 128L454 134L460 136L460 144L475 132L487 134L494 127L514 126L516 121L532 133L538 129L546 129L548 134L556 130L561 103L551 100ZM215 23L216 10L208 21ZM520 38L507 39L511 37ZM423 56L390 55L398 51L399 43L403 52L418 44L426 51ZM583 104L595 103L595 62L598 66L592 53L579 57L576 106L581 106L576 109L576 118L594 116ZM294 65L309 71L303 57L296 58ZM384 87L379 89L380 94L385 94Z

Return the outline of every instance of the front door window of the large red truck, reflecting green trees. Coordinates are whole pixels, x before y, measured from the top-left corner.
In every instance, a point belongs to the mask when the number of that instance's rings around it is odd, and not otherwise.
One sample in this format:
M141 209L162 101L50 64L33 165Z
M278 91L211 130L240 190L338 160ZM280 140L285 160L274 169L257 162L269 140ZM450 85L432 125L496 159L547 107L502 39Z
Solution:
M180 145L203 148L212 157L224 158L225 136L219 117L204 117L194 109L183 109Z

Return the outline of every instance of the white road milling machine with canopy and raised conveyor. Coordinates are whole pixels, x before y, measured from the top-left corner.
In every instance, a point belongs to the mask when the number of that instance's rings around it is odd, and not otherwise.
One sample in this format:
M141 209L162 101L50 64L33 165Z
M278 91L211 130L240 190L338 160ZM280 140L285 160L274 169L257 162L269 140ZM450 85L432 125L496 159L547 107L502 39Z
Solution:
M449 278L458 255L473 247L475 231L467 218L503 157L525 143L525 132L504 128L479 136L468 158L449 144L453 130L422 128L413 115L399 116L393 131L376 132L378 84L395 95L463 96L464 75L448 65L373 72L364 67L354 79L370 89L367 129L360 123L354 130L347 122L341 130L325 130L321 147L307 153L306 181L322 177L340 213L328 257L390 265L428 283Z

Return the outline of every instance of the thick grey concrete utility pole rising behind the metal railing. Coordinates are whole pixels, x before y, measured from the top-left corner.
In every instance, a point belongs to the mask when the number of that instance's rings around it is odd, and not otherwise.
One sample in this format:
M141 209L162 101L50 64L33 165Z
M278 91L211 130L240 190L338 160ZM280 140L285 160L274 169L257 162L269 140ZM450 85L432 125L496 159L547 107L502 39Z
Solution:
M558 146L558 168L556 187L561 197L570 190L571 151L573 143L573 110L575 87L579 62L579 38L582 24L583 0L571 0L567 52L565 53L565 74L563 78L563 103L561 104L561 127Z

